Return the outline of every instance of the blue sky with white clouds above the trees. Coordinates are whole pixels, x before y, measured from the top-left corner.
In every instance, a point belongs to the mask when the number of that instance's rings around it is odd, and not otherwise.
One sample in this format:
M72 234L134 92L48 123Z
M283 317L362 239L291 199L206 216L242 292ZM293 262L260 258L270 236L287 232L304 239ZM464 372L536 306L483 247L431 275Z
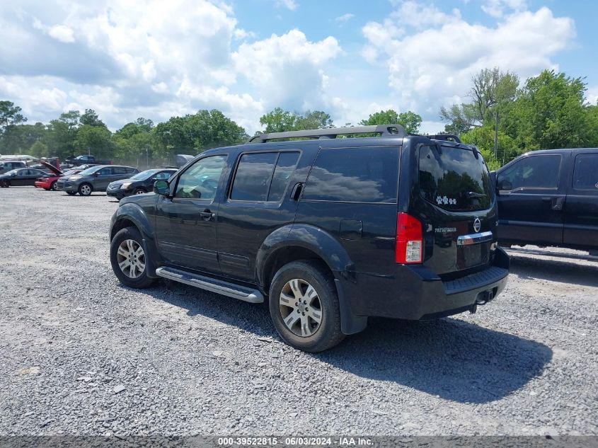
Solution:
M435 133L486 67L585 77L596 103L597 17L593 0L0 0L0 100L111 130L219 109L248 134L275 107L335 125L392 108Z

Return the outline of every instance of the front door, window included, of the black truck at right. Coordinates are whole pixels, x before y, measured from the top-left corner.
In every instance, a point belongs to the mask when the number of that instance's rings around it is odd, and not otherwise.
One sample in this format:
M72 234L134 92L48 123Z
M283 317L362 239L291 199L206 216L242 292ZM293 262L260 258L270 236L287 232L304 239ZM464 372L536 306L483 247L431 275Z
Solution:
M497 175L498 239L502 243L563 243L568 154L530 154Z

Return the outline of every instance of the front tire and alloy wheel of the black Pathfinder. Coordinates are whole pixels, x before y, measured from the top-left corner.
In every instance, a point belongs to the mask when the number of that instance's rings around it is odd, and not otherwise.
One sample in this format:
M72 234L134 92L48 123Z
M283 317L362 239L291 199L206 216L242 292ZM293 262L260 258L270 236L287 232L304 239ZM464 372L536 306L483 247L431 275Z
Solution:
M156 281L147 276L146 257L143 239L136 227L121 229L110 241L110 264L122 285L140 289Z

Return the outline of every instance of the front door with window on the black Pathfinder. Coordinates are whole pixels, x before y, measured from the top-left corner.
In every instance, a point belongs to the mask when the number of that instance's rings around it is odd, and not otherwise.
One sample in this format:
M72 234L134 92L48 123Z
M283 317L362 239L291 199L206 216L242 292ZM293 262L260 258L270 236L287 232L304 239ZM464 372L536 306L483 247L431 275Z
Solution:
M198 159L170 182L171 195L156 202L156 239L166 263L219 273L219 193L226 176L226 153Z

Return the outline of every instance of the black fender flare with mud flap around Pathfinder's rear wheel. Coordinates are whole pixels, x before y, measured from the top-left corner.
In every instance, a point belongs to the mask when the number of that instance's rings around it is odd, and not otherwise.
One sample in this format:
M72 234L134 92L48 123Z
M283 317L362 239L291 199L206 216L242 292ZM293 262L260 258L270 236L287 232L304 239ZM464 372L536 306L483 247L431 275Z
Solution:
M345 297L344 285L350 284L352 260L338 239L316 226L289 224L272 232L262 243L256 259L258 282L265 289L268 268L277 251L289 246L308 249L318 255L333 272L340 308L340 329L345 335L359 333L367 326L366 316L357 316ZM268 291L265 291L268 293Z

